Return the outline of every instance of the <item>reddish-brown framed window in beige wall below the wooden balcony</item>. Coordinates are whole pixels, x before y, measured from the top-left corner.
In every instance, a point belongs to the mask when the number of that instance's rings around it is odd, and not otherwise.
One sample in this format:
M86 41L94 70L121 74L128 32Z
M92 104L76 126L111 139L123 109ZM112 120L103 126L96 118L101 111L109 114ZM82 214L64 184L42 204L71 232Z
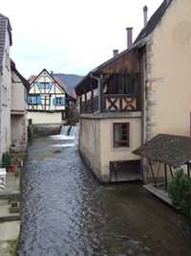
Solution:
M129 123L114 123L114 148L130 147Z

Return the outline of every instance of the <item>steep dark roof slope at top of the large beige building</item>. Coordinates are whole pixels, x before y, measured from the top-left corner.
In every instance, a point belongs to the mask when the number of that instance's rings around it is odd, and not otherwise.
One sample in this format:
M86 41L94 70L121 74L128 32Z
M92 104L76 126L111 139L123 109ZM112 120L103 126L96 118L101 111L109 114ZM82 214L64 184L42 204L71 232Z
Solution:
M149 19L146 27L144 27L141 32L139 33L138 37L136 38L135 42L138 42L140 39L150 35L154 29L159 24L159 21L161 20L163 14L168 9L169 5L172 3L173 0L164 0L161 5L159 6L159 9L151 16Z

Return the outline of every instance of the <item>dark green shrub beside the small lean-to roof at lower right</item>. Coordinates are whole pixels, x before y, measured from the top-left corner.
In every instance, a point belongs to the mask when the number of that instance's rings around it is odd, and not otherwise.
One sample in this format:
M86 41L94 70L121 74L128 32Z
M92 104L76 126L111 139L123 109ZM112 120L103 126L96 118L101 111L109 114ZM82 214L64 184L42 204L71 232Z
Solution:
M168 195L179 210L180 227L191 232L191 178L180 169L168 185Z

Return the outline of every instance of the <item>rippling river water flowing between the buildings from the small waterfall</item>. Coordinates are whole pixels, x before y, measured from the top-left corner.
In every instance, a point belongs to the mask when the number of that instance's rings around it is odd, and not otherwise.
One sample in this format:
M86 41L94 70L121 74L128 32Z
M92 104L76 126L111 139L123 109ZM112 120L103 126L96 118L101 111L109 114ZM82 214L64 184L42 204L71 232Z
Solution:
M28 148L17 255L190 255L177 212L140 182L100 184L67 132Z

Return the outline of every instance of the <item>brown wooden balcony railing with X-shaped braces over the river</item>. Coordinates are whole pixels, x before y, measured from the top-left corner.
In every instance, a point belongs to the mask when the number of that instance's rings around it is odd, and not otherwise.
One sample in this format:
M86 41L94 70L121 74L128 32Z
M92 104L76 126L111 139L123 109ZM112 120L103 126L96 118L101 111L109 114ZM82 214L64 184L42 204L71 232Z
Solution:
M139 111L138 95L105 94L103 95L101 112L108 111ZM80 103L80 113L95 113L98 111L98 97Z

